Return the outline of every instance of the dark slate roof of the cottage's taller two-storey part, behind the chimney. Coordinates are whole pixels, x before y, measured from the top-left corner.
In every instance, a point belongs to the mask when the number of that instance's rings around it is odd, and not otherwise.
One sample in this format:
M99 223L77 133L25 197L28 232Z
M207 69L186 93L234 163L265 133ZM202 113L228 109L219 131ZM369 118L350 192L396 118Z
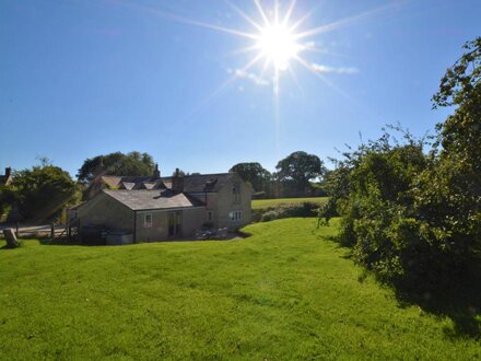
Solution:
M184 176L184 193L216 193L233 176L234 173L186 175ZM172 187L172 177L162 177L162 180L167 188Z

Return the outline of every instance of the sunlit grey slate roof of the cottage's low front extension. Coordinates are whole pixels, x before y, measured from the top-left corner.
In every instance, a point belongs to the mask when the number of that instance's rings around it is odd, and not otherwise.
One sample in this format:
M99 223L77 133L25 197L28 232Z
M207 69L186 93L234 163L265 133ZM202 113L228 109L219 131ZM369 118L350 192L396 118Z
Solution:
M131 210L154 210L168 208L190 208L203 206L203 202L185 194L174 195L171 190L103 190Z

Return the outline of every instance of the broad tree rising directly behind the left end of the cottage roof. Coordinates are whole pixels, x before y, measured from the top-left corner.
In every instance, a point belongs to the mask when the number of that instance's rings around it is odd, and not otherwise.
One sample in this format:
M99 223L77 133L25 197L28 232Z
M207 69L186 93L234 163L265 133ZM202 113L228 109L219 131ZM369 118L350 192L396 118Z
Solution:
M91 182L102 166L104 174L136 176L152 175L155 168L153 158L148 153L130 152L124 154L115 152L86 159L77 174L79 182Z

